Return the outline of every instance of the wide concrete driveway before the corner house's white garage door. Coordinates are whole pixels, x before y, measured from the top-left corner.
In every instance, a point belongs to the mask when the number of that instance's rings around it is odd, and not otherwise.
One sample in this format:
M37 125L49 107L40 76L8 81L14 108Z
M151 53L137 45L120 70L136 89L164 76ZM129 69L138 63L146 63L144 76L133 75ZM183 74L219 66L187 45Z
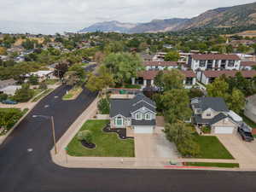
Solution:
M154 134L135 134L135 156L137 158L177 160L179 155L175 144L170 143L161 130L157 127Z

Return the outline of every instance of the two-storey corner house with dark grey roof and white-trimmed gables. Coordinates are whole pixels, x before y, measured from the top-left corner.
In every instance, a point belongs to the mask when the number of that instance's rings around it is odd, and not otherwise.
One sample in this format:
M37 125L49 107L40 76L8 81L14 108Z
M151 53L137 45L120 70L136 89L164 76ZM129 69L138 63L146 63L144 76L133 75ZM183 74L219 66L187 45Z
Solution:
M154 133L155 108L155 103L143 94L137 94L132 99L111 99L110 126L130 127L134 133Z

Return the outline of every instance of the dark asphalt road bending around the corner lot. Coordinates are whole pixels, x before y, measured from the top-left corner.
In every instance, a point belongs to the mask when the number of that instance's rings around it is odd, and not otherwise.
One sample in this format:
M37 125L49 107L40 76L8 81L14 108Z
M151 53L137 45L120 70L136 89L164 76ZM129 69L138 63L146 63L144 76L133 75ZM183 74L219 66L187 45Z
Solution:
M32 115L53 115L56 137L60 138L96 97L84 90L75 101L61 101L67 89L61 86L46 96L0 146L0 192L256 191L255 172L67 169L56 166L49 155L53 147L49 120L32 118ZM29 148L32 151L29 152Z

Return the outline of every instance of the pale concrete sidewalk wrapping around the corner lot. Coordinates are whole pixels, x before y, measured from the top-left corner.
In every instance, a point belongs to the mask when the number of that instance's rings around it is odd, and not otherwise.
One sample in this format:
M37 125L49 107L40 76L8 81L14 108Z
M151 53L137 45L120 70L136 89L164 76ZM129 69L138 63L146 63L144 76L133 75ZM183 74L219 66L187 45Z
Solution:
M218 162L218 163L239 163L238 160L204 160L204 159L183 159L178 158L177 166L171 166L170 158L156 157L73 157L66 153L65 148L73 139L80 127L87 119L91 119L96 114L96 103L98 98L90 104L90 106L82 113L67 132L57 142L58 153L55 155L54 148L50 151L52 160L55 164L64 167L73 168L123 168L123 169L207 169L207 170L230 170L230 171L255 171L256 168L243 169L239 168L212 168L212 167L188 167L182 166L182 162Z

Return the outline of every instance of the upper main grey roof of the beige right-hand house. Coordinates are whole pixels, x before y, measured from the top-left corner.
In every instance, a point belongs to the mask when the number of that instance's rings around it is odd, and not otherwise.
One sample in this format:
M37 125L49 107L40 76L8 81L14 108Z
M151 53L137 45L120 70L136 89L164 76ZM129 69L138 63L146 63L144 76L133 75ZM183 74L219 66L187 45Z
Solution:
M212 108L216 112L229 112L229 109L222 97L198 97L198 103L195 103L202 111ZM195 105L194 105L195 106Z

